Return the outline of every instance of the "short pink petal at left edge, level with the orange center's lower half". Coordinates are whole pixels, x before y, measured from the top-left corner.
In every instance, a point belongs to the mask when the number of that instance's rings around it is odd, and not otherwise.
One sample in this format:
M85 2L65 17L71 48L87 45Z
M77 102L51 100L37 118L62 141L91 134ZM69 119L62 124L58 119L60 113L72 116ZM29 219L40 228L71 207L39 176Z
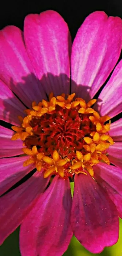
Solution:
M23 142L18 140L11 140L14 132L0 125L0 157L13 157L23 154Z

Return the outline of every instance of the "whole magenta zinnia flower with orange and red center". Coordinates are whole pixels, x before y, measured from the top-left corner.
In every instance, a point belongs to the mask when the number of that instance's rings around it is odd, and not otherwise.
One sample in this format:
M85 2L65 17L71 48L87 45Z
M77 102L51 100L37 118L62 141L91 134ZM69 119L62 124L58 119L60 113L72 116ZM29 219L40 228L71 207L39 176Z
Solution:
M72 47L54 11L26 16L24 36L15 26L0 32L0 242L21 224L22 256L60 256L73 233L92 253L118 240L122 61L99 89L121 47L121 19L101 11Z

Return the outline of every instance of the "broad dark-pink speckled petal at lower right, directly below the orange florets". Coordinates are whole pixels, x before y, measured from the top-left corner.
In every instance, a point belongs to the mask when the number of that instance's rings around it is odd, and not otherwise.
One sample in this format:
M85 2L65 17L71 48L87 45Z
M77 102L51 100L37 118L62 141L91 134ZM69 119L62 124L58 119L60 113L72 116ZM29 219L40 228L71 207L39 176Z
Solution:
M90 252L100 253L118 240L115 205L90 175L76 175L71 212L74 235Z

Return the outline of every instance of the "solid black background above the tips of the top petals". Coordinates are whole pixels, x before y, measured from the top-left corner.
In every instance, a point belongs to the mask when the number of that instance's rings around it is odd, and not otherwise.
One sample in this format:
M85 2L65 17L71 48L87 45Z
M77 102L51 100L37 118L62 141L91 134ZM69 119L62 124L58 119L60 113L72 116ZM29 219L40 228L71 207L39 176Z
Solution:
M122 0L2 0L0 4L0 29L7 25L15 25L23 30L23 22L27 14L40 13L47 9L53 9L63 16L68 23L72 40L85 17L95 10L103 10L108 16L122 18Z

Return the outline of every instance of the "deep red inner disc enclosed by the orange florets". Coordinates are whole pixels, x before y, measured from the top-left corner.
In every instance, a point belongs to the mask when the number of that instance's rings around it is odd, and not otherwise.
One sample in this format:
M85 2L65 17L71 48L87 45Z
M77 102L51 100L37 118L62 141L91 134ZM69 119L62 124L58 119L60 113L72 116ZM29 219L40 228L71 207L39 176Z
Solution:
M79 114L77 109L62 109L57 106L51 114L33 117L31 127L34 135L25 139L25 146L29 149L35 145L38 152L52 156L57 150L64 158L72 158L76 150L84 150L84 136L90 135L94 125L89 115Z

